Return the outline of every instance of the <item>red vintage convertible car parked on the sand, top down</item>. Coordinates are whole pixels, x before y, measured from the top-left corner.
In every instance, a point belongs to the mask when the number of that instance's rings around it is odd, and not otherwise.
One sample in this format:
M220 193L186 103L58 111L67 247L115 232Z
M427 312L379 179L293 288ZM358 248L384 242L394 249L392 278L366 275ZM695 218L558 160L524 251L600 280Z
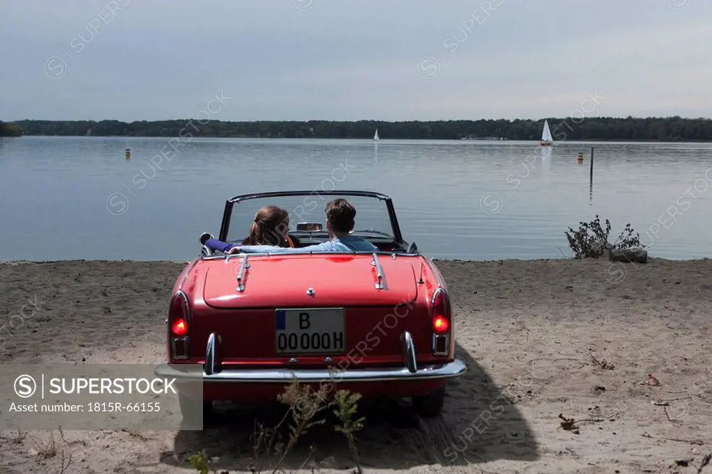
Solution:
M166 320L168 360L156 373L201 381L202 393L179 393L184 418L196 409L208 414L213 401L275 399L293 381L408 397L419 416L439 415L447 379L466 366L455 358L444 279L404 242L388 196L233 197L218 238L240 243L256 210L277 205L296 223L288 232L293 247L324 242L325 205L337 197L357 210L352 235L377 252L216 254L203 246L179 275Z

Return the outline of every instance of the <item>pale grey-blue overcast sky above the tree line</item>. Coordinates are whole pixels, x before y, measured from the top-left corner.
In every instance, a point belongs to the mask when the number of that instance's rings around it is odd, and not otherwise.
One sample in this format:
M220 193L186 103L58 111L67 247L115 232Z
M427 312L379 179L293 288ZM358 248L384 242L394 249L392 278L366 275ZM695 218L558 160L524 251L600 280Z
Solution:
M3 0L0 44L0 120L712 117L712 0Z

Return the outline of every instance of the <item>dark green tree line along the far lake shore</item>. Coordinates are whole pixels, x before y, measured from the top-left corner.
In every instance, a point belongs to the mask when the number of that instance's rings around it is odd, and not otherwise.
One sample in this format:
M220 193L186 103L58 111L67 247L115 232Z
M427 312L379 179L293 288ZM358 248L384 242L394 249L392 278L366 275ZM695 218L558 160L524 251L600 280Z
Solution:
M651 118L548 118L554 140L712 140L712 119ZM380 138L458 140L501 138L539 140L540 120L437 120L385 122L331 120L225 122L220 120L18 120L0 126L7 134L98 135L127 137L253 137L253 138ZM21 131L19 131L21 130Z

